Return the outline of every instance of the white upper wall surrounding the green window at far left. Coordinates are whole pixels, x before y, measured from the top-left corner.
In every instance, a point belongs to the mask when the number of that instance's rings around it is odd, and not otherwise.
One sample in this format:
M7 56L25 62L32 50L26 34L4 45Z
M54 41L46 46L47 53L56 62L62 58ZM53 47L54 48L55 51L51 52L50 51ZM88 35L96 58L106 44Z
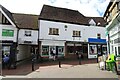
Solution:
M2 29L14 30L14 37L4 37L2 36ZM17 28L12 25L3 25L0 24L0 40L11 40L13 42L17 42Z

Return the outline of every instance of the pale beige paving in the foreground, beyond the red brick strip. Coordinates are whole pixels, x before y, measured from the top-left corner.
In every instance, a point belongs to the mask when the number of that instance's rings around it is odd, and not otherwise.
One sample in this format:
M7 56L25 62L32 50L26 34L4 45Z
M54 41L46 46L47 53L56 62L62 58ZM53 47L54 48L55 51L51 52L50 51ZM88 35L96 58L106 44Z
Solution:
M28 78L118 78L118 76L110 71L100 70L98 64L84 65L66 65L62 68L58 65L40 67L36 71L28 74Z

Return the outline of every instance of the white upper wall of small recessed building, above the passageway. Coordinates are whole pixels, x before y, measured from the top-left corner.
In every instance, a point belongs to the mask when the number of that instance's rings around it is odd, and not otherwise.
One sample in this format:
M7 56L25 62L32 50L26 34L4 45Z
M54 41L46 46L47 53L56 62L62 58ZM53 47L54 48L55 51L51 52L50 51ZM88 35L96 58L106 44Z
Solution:
M25 36L25 31L32 31L31 36ZM31 44L38 44L38 31L37 30L28 30L28 29L20 29L18 36L18 43L24 44L24 41L32 41Z

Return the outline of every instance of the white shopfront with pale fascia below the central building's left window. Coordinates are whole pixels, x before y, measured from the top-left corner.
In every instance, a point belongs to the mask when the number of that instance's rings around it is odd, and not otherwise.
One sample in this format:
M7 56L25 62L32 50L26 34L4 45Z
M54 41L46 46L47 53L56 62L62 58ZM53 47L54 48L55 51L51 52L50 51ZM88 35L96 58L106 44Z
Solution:
M41 57L51 58L51 50L56 50L56 55L58 57L65 56L65 42L66 41L58 41L58 40L42 40L41 41Z

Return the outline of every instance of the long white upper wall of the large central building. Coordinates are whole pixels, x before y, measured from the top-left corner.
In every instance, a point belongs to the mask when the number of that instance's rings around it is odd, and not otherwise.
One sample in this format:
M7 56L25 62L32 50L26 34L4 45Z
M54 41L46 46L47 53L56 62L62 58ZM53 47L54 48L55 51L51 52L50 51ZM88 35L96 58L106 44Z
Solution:
M106 39L105 27L84 26L62 22L39 20L39 39L66 40L66 41L87 41L88 38L97 38L97 33L101 34L101 39ZM64 26L67 25L67 31ZM59 35L49 35L49 28L59 28ZM73 30L81 31L81 38L73 39Z

